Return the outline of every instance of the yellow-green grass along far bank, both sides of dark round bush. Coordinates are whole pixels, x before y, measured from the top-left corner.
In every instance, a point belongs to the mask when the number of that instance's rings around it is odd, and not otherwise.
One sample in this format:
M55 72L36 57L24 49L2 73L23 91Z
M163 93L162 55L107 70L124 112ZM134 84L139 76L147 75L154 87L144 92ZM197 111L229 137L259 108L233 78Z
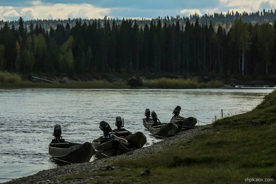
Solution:
M196 89L196 88L219 88L225 86L223 82L209 81L198 82L195 79L151 79L145 80L140 88L161 88L161 89ZM0 88L72 88L72 89L128 89L127 82L110 82L106 80L90 81L69 81L62 83L31 82L22 80L18 74L0 71Z

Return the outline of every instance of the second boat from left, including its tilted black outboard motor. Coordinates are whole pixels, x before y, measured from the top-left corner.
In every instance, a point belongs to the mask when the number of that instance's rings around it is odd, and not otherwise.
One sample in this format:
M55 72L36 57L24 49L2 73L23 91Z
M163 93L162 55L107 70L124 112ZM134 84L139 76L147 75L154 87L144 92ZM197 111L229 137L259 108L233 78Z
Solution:
M100 129L103 131L104 135L92 141L95 150L106 156L121 155L129 151L128 141L113 135L112 129L107 122L101 121Z

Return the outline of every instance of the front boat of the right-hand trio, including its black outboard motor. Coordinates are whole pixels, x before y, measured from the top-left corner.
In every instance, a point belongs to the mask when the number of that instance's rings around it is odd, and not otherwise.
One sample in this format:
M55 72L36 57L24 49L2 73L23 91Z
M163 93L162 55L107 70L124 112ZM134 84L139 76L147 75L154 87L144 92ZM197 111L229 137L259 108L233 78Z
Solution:
M178 127L174 123L162 124L154 111L151 112L151 117L154 123L149 128L149 132L159 137L170 137L174 136L178 131Z

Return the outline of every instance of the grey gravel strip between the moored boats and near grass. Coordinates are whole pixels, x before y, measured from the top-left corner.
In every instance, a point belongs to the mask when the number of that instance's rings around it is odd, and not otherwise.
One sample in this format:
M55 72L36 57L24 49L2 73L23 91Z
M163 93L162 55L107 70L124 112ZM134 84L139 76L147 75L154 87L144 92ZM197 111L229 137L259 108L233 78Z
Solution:
M152 144L151 146L144 147L141 149L136 149L134 151L130 151L123 155L108 157L105 159L97 159L93 162L86 163L74 163L70 165L60 166L53 169L39 171L36 174L13 179L6 183L87 183L90 178L82 178L82 179L65 179L64 177L68 174L75 173L94 173L100 171L106 171L106 167L109 165L109 160L114 159L135 159L135 158L147 158L151 154L157 151L168 150L170 145L176 143L178 141L188 141L192 139L194 136L210 132L211 130L205 127L210 127L211 125L200 126L191 130L186 130L176 134L173 137L164 138L161 141ZM204 128L204 129L203 129ZM112 166L115 167L116 166ZM91 180L89 181L91 183Z

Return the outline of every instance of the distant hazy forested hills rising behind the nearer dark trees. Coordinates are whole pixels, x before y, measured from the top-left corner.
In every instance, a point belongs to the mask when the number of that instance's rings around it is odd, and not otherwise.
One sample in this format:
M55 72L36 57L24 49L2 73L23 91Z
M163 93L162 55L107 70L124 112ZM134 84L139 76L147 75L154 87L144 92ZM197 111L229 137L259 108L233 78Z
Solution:
M176 23L179 21L180 26L185 25L186 21L189 19L190 22L195 22L196 19L198 20L199 24L208 24L210 21L213 23L213 27L215 30L217 30L218 25L221 25L225 27L226 33L228 33L229 29L232 27L232 24L236 19L242 19L242 21L246 23L252 23L255 24L263 24L263 23L273 23L276 19L276 9L275 10L268 10L266 11L263 9L263 11L257 11L257 12L234 12L234 11L228 11L226 13L213 13L213 14L204 14L202 16L198 15L197 13L191 14L190 16L165 16L160 17L162 25L167 22L167 24L172 24L173 22ZM152 19L145 19L145 18L138 18L138 19L128 19L133 24L134 21L138 24L138 26L144 27L146 24L150 24L151 21L155 22L157 24L157 21L159 20L159 17L152 18ZM23 22L24 27L27 27L29 30L30 23L33 23L34 25L40 25L45 30L49 30L50 27L53 29L56 28L56 25L66 25L67 23L70 25L70 27L73 27L76 24L76 21L81 22L82 24L84 22L92 22L92 19L82 19L82 18L73 18L73 19L33 19L33 20L26 20ZM97 20L100 21L101 24L104 23L104 19ZM115 24L121 24L122 20L118 18L111 18L111 22L115 21ZM5 25L6 21L0 21L0 28ZM14 25L16 28L19 26L19 21L7 21L7 24L10 28Z

